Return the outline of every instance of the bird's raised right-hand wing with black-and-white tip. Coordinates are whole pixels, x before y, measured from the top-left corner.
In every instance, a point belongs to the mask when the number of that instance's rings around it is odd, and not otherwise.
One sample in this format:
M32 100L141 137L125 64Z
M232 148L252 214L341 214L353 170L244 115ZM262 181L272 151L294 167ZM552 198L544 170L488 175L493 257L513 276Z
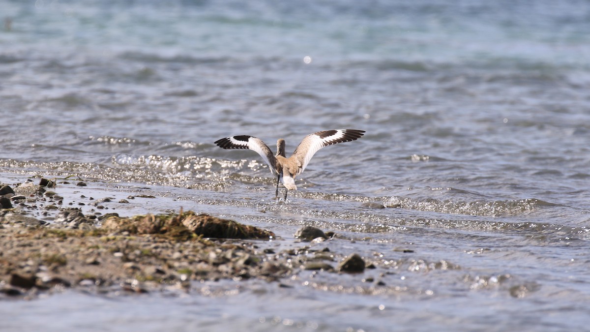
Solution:
M301 168L297 174L305 170L317 150L332 144L355 141L364 135L364 132L357 129L334 129L314 132L305 136L293 152L293 155L301 162Z

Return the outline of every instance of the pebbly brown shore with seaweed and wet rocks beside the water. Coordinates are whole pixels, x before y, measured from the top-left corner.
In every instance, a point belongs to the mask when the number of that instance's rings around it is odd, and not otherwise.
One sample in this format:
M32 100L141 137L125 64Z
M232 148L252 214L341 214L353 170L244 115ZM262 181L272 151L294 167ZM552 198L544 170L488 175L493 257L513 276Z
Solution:
M111 198L81 194L93 201L84 214L60 195L64 187L86 183L29 178L2 185L10 203L0 210L0 298L31 299L68 288L95 294L190 292L191 282L220 279L257 278L281 286L301 271L362 274L376 268L356 253L331 252L335 233L316 227L301 227L287 241L298 247L293 248L267 230L182 208L119 217L97 212L106 211Z

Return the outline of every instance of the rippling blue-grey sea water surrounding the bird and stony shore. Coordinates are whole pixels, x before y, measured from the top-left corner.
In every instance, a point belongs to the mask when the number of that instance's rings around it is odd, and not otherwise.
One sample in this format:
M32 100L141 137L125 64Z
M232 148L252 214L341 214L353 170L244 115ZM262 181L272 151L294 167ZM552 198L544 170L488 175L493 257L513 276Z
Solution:
M0 303L4 327L32 328L34 314L55 330L586 329L589 13L587 1L0 1L4 182L149 187L159 206L113 208L183 206L267 227L279 245L312 224L385 283L65 292ZM336 128L367 133L317 152L289 204L254 152L212 144L255 135L292 152Z

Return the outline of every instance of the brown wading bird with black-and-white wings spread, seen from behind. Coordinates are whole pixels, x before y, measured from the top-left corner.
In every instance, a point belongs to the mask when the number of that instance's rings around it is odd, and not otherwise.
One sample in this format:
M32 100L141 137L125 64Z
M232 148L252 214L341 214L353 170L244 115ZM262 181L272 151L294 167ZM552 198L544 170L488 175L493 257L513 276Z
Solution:
M364 135L364 132L357 129L334 129L314 132L303 138L303 141L297 145L295 152L289 158L285 157L285 140L282 138L277 141L276 155L273 155L270 148L260 138L254 136L230 136L218 139L215 144L224 149L251 149L256 151L268 164L270 172L277 175L275 198L278 198L278 183L281 181L286 188L283 199L287 200L287 191L297 190L294 178L305 170L317 150L332 144L355 141Z

